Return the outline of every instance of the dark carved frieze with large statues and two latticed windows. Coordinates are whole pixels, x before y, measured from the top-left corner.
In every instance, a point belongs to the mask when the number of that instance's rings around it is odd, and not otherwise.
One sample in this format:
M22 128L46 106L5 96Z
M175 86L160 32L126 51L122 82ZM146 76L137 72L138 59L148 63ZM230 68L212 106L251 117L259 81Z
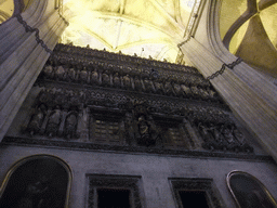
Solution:
M228 114L167 96L49 88L38 94L25 133L123 146L252 152Z

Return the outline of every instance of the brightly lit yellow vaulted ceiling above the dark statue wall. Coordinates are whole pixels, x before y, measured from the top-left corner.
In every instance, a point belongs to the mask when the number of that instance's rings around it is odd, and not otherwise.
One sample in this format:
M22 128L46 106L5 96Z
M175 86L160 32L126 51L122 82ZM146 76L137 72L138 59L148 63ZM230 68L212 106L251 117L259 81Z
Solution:
M63 43L175 63L194 0L64 0Z

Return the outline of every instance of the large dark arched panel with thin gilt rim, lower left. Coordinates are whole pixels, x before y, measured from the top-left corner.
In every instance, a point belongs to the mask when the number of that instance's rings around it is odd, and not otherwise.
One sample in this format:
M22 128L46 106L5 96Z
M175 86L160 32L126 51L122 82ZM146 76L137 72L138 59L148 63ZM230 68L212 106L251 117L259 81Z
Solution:
M62 159L26 157L9 170L0 191L0 208L67 207L70 184L70 168Z

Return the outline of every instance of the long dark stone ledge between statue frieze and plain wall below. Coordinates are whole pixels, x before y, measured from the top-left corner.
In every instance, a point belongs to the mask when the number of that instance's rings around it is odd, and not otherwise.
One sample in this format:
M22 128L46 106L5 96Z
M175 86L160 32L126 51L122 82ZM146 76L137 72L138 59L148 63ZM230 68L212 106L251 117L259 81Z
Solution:
M85 151L85 152L110 152L118 154L154 154L172 157L184 158L217 158L232 160L250 160L250 161L267 161L275 164L271 156L254 155L249 153L223 153L210 151L181 151L158 147L143 147L143 146L116 146L107 144L93 144L84 142L68 142L45 139L30 139L30 138L14 138L5 136L1 142L1 146L27 146L27 147L42 147L42 148L61 148L68 151Z

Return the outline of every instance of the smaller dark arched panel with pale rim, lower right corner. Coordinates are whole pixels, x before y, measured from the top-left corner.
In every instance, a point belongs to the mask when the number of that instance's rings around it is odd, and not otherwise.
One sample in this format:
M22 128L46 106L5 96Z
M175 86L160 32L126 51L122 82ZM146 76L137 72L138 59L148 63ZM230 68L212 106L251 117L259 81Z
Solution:
M277 207L276 202L266 187L256 178L247 172L229 172L227 185L239 208Z

